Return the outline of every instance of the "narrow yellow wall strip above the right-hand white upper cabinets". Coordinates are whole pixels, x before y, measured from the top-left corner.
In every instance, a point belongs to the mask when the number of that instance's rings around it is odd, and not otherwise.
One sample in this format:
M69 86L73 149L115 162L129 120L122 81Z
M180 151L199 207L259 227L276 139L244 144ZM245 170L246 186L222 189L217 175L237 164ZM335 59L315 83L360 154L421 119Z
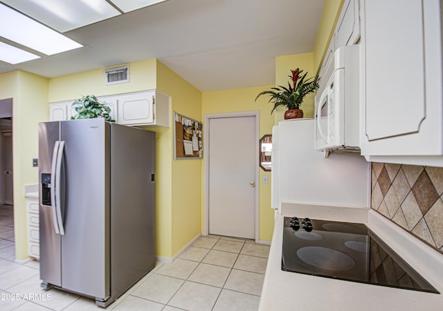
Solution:
M318 73L320 64L325 56L325 49L329 45L341 7L345 0L327 0L323 4L320 25L318 26L316 42L314 44L314 69ZM314 73L314 72L313 72Z

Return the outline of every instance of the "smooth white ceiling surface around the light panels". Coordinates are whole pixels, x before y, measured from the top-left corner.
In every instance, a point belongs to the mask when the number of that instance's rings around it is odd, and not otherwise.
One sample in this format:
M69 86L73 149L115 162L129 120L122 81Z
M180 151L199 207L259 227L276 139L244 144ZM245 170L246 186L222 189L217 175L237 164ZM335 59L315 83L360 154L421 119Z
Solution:
M200 91L273 85L276 56L313 50L323 1L168 0L67 31L87 47L0 61L0 73L53 78L157 58Z

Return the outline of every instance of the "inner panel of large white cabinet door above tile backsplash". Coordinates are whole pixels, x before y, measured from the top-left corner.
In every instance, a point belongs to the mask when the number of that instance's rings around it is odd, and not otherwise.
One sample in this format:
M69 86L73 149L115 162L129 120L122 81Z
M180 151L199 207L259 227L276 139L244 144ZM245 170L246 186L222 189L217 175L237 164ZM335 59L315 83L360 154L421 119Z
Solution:
M372 141L418 132L425 117L422 0L365 1L365 22L365 134Z

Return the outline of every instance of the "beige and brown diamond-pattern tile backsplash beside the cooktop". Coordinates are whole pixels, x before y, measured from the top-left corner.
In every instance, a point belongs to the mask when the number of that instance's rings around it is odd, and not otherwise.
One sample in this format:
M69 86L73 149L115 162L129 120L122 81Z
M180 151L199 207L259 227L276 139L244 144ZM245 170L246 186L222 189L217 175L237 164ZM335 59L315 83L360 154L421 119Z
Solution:
M371 208L443 253L443 168L372 162Z

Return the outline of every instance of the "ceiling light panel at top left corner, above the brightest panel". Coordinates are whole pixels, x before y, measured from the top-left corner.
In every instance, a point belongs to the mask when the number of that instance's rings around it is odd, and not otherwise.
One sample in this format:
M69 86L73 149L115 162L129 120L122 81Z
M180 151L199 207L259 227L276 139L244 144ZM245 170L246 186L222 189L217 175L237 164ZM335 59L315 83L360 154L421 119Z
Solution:
M2 0L12 8L64 33L120 12L106 0Z

